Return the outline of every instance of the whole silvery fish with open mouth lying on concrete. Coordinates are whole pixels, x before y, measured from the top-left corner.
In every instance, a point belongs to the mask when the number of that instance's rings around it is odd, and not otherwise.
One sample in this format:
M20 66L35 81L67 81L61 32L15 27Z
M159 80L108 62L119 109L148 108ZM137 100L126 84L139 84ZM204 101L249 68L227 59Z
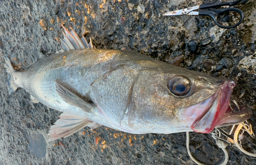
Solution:
M123 132L210 133L215 127L243 122L252 115L242 107L231 112L236 84L143 54L97 49L62 26L61 49L42 57L26 71L16 71L8 57L9 94L23 88L33 103L63 112L51 126L48 141L89 126Z

